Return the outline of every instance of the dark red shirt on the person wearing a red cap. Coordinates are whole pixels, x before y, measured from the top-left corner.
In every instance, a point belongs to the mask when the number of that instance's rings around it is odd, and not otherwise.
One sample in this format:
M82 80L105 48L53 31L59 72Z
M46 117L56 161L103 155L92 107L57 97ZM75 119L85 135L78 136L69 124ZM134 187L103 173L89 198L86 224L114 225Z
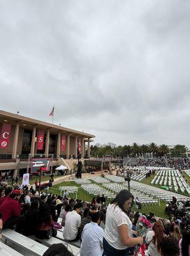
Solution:
M19 201L8 197L4 200L3 204L0 205L0 212L2 213L3 223L14 216L20 216Z

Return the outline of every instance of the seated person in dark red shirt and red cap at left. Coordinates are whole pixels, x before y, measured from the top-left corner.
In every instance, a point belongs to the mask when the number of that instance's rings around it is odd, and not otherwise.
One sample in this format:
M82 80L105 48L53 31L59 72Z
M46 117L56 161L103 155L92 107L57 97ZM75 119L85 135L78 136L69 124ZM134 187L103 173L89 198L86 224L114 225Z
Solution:
M3 229L12 228L17 225L16 230L20 232L22 216L20 216L19 198L21 191L16 189L12 194L1 204L0 212L2 214Z

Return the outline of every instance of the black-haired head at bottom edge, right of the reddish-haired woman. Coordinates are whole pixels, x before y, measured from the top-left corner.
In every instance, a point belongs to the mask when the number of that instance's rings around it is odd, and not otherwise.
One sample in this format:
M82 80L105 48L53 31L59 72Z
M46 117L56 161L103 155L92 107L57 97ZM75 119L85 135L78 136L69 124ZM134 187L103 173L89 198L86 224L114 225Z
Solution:
M163 237L160 243L160 247L161 247L161 252L163 256L179 255L179 248L178 248L177 241L171 236Z

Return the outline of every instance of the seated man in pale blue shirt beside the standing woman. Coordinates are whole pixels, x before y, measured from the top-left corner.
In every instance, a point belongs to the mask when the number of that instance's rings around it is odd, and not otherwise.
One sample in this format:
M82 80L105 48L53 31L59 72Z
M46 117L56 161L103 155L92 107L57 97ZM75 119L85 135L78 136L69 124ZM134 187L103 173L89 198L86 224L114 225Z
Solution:
M100 212L91 214L91 222L84 226L81 236L81 256L102 256L104 230L99 224Z

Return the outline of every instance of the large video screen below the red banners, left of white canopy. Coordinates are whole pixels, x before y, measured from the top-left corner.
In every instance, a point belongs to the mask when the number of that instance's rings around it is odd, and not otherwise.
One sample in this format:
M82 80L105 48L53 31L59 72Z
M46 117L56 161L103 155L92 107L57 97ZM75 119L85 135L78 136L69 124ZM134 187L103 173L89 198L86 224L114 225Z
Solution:
M42 172L49 172L51 165L51 158L33 158L31 159L31 173L39 172L40 168Z

